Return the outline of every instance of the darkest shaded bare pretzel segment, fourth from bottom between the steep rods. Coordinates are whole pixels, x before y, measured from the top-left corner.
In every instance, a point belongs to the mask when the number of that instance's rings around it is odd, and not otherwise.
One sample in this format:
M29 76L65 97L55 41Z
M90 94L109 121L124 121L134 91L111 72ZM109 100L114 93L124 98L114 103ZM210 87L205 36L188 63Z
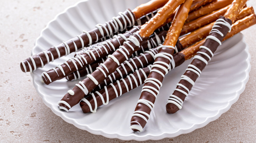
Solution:
M214 0L211 3L198 8L192 12L189 12L188 17L185 21L185 23L188 23L192 20L195 20L199 17L202 17L206 14L211 13L212 11L224 8L225 6L229 5L232 3L233 0Z

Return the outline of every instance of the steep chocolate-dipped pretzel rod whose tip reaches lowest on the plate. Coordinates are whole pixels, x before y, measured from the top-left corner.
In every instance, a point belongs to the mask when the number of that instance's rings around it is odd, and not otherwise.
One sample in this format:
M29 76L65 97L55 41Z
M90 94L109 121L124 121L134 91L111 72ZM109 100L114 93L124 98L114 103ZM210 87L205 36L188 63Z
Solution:
M156 59L153 63L152 70L150 71L150 74L142 87L139 101L143 100L143 102L138 102L131 118L130 128L135 132L141 132L149 119L149 114L153 108L157 95L159 94L159 89L161 87L164 75L167 74L168 69L170 69L169 64L174 53L173 46L175 46L180 36L181 28L187 18L191 4L192 0L186 0L180 6L163 45L158 48L159 51L155 56Z

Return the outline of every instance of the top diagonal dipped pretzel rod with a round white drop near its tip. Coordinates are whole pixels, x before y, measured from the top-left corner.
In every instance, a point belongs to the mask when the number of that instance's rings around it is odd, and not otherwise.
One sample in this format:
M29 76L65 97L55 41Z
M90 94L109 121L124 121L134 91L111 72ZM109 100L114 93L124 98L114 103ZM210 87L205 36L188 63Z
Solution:
M142 41L148 40L149 36L153 34L153 32L164 23L165 19L183 2L184 0L169 0L139 32L127 38L126 42L112 55L108 55L109 58L92 74L88 74L87 78L76 84L72 90L69 90L61 101L58 102L60 108L69 110L71 108L70 104L75 105L79 103L85 95L91 92L99 83L103 82L122 62L137 51Z

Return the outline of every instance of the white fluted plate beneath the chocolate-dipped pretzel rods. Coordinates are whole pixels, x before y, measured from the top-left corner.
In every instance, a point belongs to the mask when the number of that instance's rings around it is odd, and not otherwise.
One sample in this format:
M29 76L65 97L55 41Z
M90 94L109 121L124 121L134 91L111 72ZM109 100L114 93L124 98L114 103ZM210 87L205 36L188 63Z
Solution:
M49 22L36 40L32 54L75 37L82 30L89 30L97 23L110 20L119 11L124 11L125 8L135 8L146 1L88 0L79 2ZM141 86L114 99L108 105L99 107L96 113L84 114L78 105L70 112L59 110L57 102L78 83L78 80L67 82L66 79L62 79L45 85L41 82L40 75L43 71L48 71L63 63L71 56L73 55L61 57L43 69L38 68L31 73L38 94L44 103L66 122L92 134L122 140L143 141L175 137L190 133L218 119L238 100L239 95L245 89L250 71L248 47L243 40L243 35L239 33L218 48L215 56L203 70L194 88L185 99L182 109L175 114L166 113L165 103L191 61L186 61L167 74L155 107L150 114L151 119L143 132L134 133L129 129L130 119L139 99Z

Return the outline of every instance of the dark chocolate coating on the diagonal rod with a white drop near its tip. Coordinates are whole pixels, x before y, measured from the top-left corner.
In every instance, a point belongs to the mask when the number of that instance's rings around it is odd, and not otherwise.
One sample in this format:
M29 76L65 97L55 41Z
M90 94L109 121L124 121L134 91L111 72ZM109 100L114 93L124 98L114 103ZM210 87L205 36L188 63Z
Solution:
M126 54L127 57L130 57L135 51L137 51L139 49L139 46L142 44L143 41L145 40L148 40L149 37L140 37L139 35L139 32L137 32L137 34L134 34L132 36L133 38L135 38L136 40L138 40L139 42L139 45L135 45L135 43L132 42L132 40L127 39L127 43L124 42L123 46L125 49L128 50L128 53L123 49L123 48L120 48L120 50L123 51L123 53ZM133 49L129 46L129 44L133 47ZM125 56L122 54L122 52L120 51L115 51L112 56L114 56L119 63L122 63L126 60ZM117 67L118 67L118 64L117 62L115 62L112 58L107 58L106 61L103 63L103 65L105 65L108 69L108 71L103 67L103 66L99 66L98 68L101 68L106 76L110 75L112 72L114 72ZM103 82L106 77L105 75L103 74L103 72L99 69L96 69L92 74L90 74L98 83L101 83ZM82 85L81 85L82 84ZM75 86L73 88L73 91L74 91L74 95L70 95L69 93L67 93L62 99L61 101L65 101L67 103L69 103L69 105L72 107L74 106L75 104L79 103L80 100L88 93L90 93L96 86L97 84L91 79L88 77L87 75L87 78L85 78L82 82L80 82L78 85L82 86L83 87L83 90L86 88L88 90L88 92L84 92L81 88L79 88L78 86ZM64 106L65 108L67 108L68 110L70 109L69 107L67 107L65 104L63 103L60 103L59 106Z

